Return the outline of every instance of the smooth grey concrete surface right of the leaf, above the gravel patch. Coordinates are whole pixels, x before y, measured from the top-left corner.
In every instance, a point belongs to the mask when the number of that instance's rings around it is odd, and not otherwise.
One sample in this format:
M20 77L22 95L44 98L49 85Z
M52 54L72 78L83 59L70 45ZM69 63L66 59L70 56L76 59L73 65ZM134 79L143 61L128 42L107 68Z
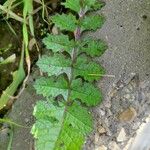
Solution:
M150 1L105 0L99 13L106 17L103 27L91 35L104 39L108 50L99 62L107 74L100 86L107 95L109 87L122 73L139 73L140 80L150 80Z

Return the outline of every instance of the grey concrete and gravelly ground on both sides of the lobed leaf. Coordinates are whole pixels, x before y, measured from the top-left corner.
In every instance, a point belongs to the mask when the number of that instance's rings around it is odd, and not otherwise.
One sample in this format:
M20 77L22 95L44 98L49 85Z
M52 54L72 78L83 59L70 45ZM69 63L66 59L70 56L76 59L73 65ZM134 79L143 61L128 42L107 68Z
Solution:
M105 24L86 36L107 42L107 51L96 60L108 75L115 77L104 77L98 83L104 98L101 105L92 109L95 129L84 149L131 150L128 147L130 139L136 136L136 131L150 114L150 1L105 2L105 7L97 12L106 17ZM36 76L34 70L27 88L8 114L14 122L24 126L34 122L32 111L39 99L32 87ZM6 149L7 132L0 135L0 150ZM32 147L30 128L14 128L12 150L32 150Z

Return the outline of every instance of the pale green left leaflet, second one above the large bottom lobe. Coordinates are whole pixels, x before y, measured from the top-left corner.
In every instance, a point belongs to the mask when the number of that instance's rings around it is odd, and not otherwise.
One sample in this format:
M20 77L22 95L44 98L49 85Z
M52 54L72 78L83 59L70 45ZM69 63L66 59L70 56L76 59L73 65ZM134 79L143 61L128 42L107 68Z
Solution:
M43 56L38 60L37 65L43 72L47 72L49 76L59 76L66 73L71 76L71 59L66 58L63 54L54 54L53 56Z

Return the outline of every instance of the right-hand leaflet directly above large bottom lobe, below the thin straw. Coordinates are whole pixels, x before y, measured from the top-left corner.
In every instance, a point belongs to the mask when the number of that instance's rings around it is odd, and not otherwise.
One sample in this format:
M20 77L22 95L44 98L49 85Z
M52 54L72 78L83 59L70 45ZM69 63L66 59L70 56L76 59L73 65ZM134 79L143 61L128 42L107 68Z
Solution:
M72 82L71 99L79 99L87 106L96 106L102 100L100 90L90 83L82 83L80 79Z

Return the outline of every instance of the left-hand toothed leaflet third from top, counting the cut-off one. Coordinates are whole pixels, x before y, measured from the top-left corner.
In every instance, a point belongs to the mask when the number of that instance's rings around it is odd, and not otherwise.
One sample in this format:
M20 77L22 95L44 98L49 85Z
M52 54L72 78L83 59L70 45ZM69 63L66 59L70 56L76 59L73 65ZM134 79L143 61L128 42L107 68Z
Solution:
M47 37L43 39L43 43L46 45L47 49L51 49L53 52L63 52L67 51L71 53L74 42L69 40L67 35L52 35L47 34Z

